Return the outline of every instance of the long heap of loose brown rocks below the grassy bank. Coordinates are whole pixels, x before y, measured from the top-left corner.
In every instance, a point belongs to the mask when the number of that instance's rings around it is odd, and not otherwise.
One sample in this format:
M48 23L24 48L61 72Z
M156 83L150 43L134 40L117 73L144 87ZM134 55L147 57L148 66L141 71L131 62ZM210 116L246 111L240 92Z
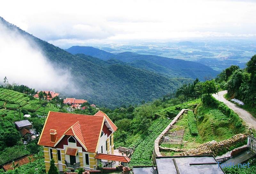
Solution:
M247 139L245 134L236 134L233 137L220 142L209 141L198 146L196 149L189 149L186 152L180 153L180 156L187 155L213 155L217 156L220 152L228 151L228 148L236 145L238 142L243 142Z

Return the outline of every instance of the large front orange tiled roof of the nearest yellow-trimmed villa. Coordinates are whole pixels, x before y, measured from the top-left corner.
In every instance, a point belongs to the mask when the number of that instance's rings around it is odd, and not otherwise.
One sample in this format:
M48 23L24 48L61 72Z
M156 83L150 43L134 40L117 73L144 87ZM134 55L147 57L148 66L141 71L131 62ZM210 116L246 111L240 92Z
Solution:
M104 118L107 119L107 117L104 115L95 117L94 115L50 111L45 121L38 144L42 146L54 147L55 142L51 142L50 136L50 130L54 129L57 131L56 142L60 140L60 137L62 137L63 134L75 134L81 143L86 147L88 152L96 152Z

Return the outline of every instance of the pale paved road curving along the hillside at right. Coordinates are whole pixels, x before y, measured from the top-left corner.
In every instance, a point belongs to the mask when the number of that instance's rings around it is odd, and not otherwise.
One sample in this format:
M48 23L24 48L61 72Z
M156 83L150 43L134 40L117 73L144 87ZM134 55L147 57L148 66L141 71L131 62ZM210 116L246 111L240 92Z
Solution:
M226 94L228 91L220 91L218 94L212 94L214 98L217 100L225 103L230 109L232 109L234 112L236 112L241 119L245 121L246 124L249 125L249 127L252 127L256 130L256 118L254 118L249 112L245 111L244 109L238 107L236 104L231 103L230 101L226 100L226 98L223 97L224 94Z

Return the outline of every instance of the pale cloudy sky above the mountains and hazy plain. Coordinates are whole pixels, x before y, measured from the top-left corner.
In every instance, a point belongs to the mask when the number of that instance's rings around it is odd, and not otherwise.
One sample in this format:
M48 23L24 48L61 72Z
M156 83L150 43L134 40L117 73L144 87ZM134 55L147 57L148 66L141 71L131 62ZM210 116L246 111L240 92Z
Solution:
M4 0L0 16L62 48L119 40L256 37L253 0Z

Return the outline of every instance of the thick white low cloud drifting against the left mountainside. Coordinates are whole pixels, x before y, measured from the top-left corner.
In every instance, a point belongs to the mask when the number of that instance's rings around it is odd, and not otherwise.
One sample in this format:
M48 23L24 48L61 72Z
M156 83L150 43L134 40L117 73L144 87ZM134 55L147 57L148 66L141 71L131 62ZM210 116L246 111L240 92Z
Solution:
M10 84L24 84L36 90L72 88L71 75L56 69L33 41L11 31L1 22L0 31L0 78L6 76Z

